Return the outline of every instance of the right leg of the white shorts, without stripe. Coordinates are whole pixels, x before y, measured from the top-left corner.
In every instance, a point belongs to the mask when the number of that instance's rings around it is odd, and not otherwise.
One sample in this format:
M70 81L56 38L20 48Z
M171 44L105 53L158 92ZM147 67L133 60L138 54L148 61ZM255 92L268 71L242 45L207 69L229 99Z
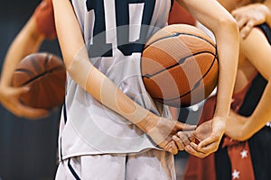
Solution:
M126 160L126 179L176 179L173 154L156 149L129 154Z

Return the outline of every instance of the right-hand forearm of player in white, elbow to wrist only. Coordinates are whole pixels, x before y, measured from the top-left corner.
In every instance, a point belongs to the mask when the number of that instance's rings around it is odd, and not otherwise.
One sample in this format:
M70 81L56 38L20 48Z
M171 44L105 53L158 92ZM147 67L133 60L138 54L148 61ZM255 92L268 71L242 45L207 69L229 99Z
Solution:
M218 98L214 116L218 117L227 117L229 115L231 96L235 85L238 66L238 26L229 24L229 27L224 25L224 28L225 30L221 28L221 30L215 34L220 74L217 93Z

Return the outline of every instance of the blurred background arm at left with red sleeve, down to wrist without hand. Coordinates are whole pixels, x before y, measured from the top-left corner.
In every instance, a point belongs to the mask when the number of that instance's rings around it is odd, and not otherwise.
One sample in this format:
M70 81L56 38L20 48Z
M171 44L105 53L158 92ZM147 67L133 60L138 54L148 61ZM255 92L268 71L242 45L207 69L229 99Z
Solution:
M46 25L44 25L46 24ZM42 0L31 18L19 31L5 55L2 69L2 85L11 85L17 64L27 55L40 49L42 41L56 38L51 0Z

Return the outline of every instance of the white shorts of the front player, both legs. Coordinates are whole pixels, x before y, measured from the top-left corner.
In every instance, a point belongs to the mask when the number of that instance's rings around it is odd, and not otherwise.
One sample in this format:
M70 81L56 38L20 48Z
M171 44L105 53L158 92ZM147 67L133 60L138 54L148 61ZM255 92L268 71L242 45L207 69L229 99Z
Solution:
M127 156L71 157L61 161L56 180L173 180L174 171L173 155L153 149Z

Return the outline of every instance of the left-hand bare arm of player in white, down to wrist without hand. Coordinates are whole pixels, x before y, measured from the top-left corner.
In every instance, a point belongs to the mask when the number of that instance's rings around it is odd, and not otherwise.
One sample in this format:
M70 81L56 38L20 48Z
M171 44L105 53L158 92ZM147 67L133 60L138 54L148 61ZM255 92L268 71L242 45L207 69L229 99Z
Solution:
M158 116L131 100L91 64L71 4L64 0L55 0L53 5L61 52L71 78L98 102L136 124L141 130L147 131L154 121L158 121ZM69 21L64 21L67 17ZM70 31L66 31L67 28Z

